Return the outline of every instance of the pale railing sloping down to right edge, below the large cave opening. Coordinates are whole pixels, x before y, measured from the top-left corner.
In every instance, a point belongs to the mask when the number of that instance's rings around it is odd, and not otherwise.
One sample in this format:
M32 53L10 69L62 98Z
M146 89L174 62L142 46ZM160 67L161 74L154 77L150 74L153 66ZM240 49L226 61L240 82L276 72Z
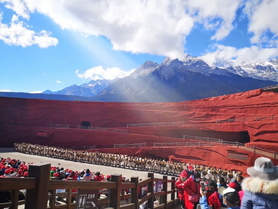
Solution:
M257 154L265 155L265 156L268 156L268 157L273 157L274 159L276 158L276 152L275 151L269 151L269 150L266 150L266 149L262 149L260 147L255 147L255 146L250 146L250 145L247 145L247 144L242 144L240 142L228 142L228 141L223 141L223 140L216 139L216 138L198 137L198 136L195 137L195 136L187 136L187 135L183 135L182 138L191 139L191 140L205 141L205 142L207 142L207 145L205 145L205 146L209 146L208 145L209 143L211 143L211 146L213 146L213 145L222 145L222 146L225 145L225 146L233 146L233 147L236 146L239 149L252 151L252 152L257 153ZM188 143L191 143L191 142L188 142ZM199 142L199 143L201 143L201 144L197 144L195 146L204 146L204 145L202 145L202 142ZM164 144L164 143L162 143L162 144ZM176 143L174 143L174 144L176 144ZM186 143L184 143L184 144L186 144ZM181 145L179 145L179 146L181 146Z

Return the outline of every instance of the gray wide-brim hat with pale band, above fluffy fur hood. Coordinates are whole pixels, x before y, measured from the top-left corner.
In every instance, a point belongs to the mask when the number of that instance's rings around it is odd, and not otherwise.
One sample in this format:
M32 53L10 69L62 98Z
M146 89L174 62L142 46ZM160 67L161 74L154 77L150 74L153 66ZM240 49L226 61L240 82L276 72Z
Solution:
M257 177L267 181L278 179L273 162L266 157L259 157L255 160L254 167L247 168L247 173L252 177Z

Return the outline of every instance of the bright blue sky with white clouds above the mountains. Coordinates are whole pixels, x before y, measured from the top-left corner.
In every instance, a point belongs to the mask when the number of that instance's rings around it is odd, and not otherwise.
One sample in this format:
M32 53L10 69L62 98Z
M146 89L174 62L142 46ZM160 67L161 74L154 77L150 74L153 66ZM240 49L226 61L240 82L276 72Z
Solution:
M57 91L124 77L165 56L190 54L211 66L277 57L277 1L177 2L0 0L0 91Z

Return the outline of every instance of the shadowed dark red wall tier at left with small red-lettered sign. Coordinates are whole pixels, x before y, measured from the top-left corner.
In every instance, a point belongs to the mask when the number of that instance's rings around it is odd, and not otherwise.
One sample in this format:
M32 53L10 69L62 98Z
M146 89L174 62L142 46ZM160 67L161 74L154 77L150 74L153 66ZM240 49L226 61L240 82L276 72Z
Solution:
M155 142L195 142L187 139L129 133L20 125L1 125L0 131L0 147L11 147L14 142L28 142L58 147L96 145L97 148L113 147L114 144L146 143L146 146L153 146ZM46 133L46 135L41 136L41 133Z

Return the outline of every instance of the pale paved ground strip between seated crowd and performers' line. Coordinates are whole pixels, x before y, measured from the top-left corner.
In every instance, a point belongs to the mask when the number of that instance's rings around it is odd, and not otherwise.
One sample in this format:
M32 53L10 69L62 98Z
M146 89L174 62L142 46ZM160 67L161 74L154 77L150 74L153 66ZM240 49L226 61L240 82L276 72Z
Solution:
M40 155L33 155L33 154L24 154L19 153L13 150L13 148L0 148L0 157L10 157L11 159L20 159L21 161L25 162L44 162L44 163L50 163L51 166L58 166L58 163L60 163L59 167L63 167L64 169L68 168L71 170L77 170L80 171L82 169L89 168L90 171L96 172L100 171L100 173L106 175L110 175L113 173L119 173L122 174L123 177L130 179L131 176L138 176L139 179L145 179L148 176L147 171L140 171L137 169L128 169L128 168L119 168L119 167L112 167L112 166L105 166L105 165L98 165L98 164L89 164L89 163L82 163L82 162L74 162L70 160L64 160L64 159L57 159L57 158L51 158L51 157L43 157ZM163 174L154 174L155 178L162 178ZM168 179L171 179L172 176L168 176Z

